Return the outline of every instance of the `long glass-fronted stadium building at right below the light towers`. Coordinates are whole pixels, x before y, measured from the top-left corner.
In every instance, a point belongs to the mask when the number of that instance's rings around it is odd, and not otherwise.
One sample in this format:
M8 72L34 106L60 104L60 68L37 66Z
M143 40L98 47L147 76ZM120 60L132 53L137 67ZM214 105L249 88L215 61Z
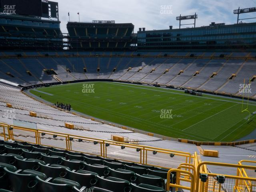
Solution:
M255 49L256 23L138 31L138 50Z

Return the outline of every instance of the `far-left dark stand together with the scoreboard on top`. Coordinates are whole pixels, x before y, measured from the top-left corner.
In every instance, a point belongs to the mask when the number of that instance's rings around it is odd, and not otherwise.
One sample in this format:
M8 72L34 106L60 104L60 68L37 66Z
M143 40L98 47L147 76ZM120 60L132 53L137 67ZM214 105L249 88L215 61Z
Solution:
M63 50L58 3L1 0L1 50Z

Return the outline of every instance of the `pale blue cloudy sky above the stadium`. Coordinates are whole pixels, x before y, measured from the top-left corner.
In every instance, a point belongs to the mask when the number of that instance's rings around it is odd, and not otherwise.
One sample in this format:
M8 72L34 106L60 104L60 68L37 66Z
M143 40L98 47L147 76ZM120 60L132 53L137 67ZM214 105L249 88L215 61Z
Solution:
M68 12L70 21L115 20L116 23L134 24L134 32L139 27L146 30L179 27L176 16L198 14L196 26L206 26L211 22L234 24L237 15L233 10L256 7L256 0L52 0L59 3L61 30L67 33ZM256 12L240 14L240 18L256 17ZM182 24L193 23L184 20ZM256 19L243 20L256 22ZM182 28L192 27L184 25Z

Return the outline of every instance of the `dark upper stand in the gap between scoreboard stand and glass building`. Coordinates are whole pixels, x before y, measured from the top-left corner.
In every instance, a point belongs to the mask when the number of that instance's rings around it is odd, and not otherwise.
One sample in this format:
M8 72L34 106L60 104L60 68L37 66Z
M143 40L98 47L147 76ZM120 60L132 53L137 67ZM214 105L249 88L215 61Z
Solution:
M67 29L71 50L129 50L136 43L132 23L68 22Z

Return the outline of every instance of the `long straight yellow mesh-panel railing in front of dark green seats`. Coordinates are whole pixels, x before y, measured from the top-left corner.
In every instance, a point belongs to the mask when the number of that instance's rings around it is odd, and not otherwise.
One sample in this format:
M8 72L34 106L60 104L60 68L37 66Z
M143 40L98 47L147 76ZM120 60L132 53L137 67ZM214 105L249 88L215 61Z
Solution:
M2 124L0 124L0 128L1 125ZM4 124L4 126L5 132L1 132L0 134L0 136L4 137L4 140L12 139L25 141L32 144L40 144L43 146L93 154L107 158L115 158L162 168L178 168L182 163L191 164L193 161L192 159L194 158L194 156L188 152L6 124Z

